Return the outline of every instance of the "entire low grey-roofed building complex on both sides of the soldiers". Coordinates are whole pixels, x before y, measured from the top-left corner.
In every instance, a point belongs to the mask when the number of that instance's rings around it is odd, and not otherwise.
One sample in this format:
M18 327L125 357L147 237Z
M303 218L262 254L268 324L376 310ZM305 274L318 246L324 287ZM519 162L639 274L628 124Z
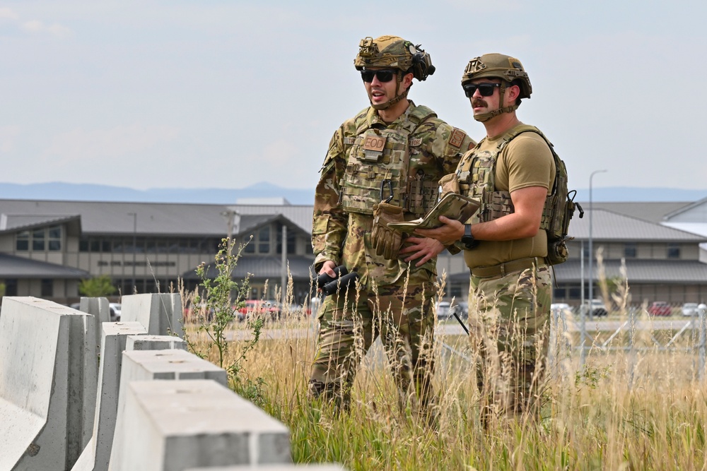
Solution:
M193 290L200 263L214 262L221 239L243 244L233 277L250 273L250 299L276 299L293 280L294 302L311 292L312 206L208 205L0 200L0 282L7 295L69 304L80 280L108 275L119 292L168 292L181 280ZM633 304L707 300L707 200L697 203L594 203L570 225L570 258L554 268L554 300L587 299L590 214L594 292L602 277L627 278ZM690 225L694 231L685 229ZM673 227L671 227L673 226ZM697 233L695 233L697 232ZM445 297L465 299L462 256L438 258ZM624 274L625 273L625 274ZM583 290L584 287L584 290Z

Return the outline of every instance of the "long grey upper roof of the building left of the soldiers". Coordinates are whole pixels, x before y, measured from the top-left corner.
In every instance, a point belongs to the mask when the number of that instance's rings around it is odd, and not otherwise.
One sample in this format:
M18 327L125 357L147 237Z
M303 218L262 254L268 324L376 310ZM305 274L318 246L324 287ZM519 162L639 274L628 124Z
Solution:
M283 215L306 234L312 231L312 206L305 205L210 205L185 203L119 203L100 201L38 201L0 199L0 230L23 225L47 224L69 216L81 216L86 235L124 234L223 237L229 213L242 215L241 227L254 227L249 216ZM1 226L5 221L4 227Z

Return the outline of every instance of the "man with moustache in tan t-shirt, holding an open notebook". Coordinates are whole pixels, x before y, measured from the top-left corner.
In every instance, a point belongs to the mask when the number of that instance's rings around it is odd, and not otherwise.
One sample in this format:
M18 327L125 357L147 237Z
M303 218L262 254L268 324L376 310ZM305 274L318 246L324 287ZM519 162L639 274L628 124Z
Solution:
M486 137L462 157L456 180L481 207L465 225L440 217L444 226L416 232L464 249L469 327L484 359L477 378L487 418L493 410L512 414L539 405L551 303L544 208L556 167L542 133L516 117L520 99L532 92L518 59L472 59L462 87Z

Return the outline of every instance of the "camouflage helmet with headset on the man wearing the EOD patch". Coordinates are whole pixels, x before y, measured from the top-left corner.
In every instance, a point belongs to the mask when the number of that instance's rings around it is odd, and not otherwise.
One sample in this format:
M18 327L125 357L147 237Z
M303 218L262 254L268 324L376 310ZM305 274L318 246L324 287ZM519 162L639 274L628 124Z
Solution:
M400 83L406 73L412 73L414 78L424 81L435 73L430 54L397 36L380 36L375 38L364 37L358 44L358 54L354 59L356 70L366 68L397 68L397 88L395 98L383 105L373 105L375 109L387 109L407 97L409 88L402 94L399 93Z

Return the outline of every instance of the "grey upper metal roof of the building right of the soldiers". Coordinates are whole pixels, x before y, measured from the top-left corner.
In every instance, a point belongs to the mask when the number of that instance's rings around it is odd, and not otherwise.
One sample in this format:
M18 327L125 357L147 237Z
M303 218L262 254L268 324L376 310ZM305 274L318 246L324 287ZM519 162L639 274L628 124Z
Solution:
M575 239L589 239L589 224L592 219L592 239L597 241L630 242L694 242L707 239L698 234L666 227L638 217L631 217L600 208L588 210L580 219L575 212L570 222L569 235Z

